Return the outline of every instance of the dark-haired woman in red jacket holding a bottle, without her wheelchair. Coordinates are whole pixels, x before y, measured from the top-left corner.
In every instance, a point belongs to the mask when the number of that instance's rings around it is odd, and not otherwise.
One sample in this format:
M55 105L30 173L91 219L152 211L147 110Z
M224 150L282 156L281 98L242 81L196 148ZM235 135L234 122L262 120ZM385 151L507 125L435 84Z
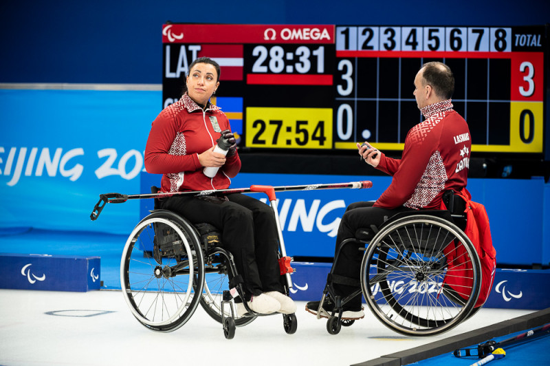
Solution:
M220 68L210 58L193 61L186 76L186 92L153 121L145 149L148 173L162 174L162 192L227 189L241 169L229 120L210 103L219 87ZM227 155L217 153L217 140L228 140ZM217 168L214 177L203 173ZM160 208L186 217L193 224L207 222L221 229L223 247L232 253L242 280L245 301L259 314L296 311L287 297L278 266L278 235L274 214L263 202L239 193L226 197L172 196ZM243 299L235 299L239 316ZM239 301L241 302L239 304Z

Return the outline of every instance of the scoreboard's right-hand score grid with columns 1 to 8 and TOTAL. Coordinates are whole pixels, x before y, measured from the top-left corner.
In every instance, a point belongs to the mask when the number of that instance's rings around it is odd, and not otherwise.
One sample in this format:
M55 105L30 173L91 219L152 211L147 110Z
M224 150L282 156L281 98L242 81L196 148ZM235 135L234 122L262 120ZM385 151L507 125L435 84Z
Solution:
M337 149L370 140L401 150L421 121L412 84L423 63L455 76L454 109L474 151L542 153L544 27L336 28L333 139Z

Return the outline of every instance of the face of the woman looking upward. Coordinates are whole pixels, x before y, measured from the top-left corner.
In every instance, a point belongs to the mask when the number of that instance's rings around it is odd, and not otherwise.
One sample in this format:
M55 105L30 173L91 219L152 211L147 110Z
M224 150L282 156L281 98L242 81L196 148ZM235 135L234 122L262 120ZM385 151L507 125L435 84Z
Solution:
M206 105L219 86L216 68L209 63L193 65L187 76L187 94L198 105Z

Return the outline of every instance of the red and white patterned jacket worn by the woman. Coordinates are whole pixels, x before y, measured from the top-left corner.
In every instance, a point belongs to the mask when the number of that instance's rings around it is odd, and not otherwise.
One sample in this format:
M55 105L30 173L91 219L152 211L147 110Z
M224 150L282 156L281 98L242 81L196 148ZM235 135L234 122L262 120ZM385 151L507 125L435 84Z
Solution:
M199 162L199 154L214 146L224 129L231 127L219 107L209 105L203 111L184 94L153 121L145 148L146 171L162 174L163 192L228 188L230 178L241 170L238 153L227 158L213 178L203 174Z

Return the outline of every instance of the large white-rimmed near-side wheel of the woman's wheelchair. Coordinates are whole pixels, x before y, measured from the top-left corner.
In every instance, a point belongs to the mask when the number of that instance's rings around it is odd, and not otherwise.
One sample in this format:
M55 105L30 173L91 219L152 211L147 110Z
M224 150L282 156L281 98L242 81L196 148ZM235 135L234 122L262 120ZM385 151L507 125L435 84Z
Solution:
M142 325L177 330L197 309L203 283L203 254L189 222L159 210L135 226L122 252L120 284Z

